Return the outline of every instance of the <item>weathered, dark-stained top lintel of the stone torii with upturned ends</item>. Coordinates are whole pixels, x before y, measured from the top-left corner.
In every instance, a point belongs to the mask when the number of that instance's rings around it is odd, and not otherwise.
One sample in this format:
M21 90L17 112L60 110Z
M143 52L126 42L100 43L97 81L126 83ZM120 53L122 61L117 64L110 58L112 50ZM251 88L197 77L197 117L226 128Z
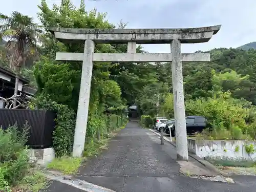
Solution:
M179 39L182 44L207 42L215 35L221 25L200 28L179 29L75 29L48 28L61 41L84 41L91 39L96 43L125 44L136 41L137 44L169 44Z

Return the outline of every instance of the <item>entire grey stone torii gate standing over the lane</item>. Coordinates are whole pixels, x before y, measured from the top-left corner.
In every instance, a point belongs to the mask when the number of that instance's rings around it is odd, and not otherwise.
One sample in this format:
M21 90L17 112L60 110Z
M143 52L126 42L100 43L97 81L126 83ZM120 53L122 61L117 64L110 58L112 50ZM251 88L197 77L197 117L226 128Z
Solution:
M72 29L49 28L60 41L84 42L83 53L57 53L56 60L82 61L73 156L81 157L86 139L93 61L170 62L174 93L177 159L188 160L181 62L210 61L208 53L181 54L181 44L207 42L221 25L185 29ZM96 44L128 44L127 53L94 53ZM170 44L170 53L136 53L136 44Z

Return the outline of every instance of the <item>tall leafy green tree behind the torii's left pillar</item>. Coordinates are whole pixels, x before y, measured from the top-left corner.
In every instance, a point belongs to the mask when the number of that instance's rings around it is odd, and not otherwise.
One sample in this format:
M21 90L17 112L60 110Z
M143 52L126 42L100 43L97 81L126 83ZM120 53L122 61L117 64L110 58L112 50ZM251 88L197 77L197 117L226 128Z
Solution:
M50 9L45 0L38 6L40 22L47 27L65 28L102 28L112 29L114 25L106 19L105 13L97 13L96 9L87 12L84 1L75 7L71 1L63 0L59 6ZM47 32L42 41L41 53L44 56L36 63L34 75L38 84L38 97L48 95L58 104L65 104L77 111L81 62L55 61L56 52L83 52L84 42L62 43L54 35ZM96 53L115 53L114 46L97 44ZM111 78L111 70L118 64L111 62L94 62L89 104L87 140L96 133L105 133L109 122L104 114L111 111L117 114L124 108L119 84ZM113 122L112 122L113 123Z

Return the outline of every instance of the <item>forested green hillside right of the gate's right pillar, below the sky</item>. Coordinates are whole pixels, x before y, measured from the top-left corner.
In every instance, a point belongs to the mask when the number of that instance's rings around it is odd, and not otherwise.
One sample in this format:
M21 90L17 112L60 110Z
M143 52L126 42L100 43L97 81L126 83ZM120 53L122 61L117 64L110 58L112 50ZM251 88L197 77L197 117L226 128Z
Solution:
M234 98L244 98L256 104L256 50L214 49L209 63L184 65L186 98L195 99L207 94L214 86L230 91Z

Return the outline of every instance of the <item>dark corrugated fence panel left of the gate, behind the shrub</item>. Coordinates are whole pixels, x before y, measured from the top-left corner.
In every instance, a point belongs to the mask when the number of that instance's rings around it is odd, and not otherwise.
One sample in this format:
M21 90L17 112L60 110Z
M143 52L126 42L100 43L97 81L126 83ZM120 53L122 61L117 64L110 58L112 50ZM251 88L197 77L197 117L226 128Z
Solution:
M47 148L52 146L52 136L55 127L56 113L47 110L9 110L0 109L0 126L4 130L9 125L17 123L22 131L26 121L30 126L27 145L32 148Z

